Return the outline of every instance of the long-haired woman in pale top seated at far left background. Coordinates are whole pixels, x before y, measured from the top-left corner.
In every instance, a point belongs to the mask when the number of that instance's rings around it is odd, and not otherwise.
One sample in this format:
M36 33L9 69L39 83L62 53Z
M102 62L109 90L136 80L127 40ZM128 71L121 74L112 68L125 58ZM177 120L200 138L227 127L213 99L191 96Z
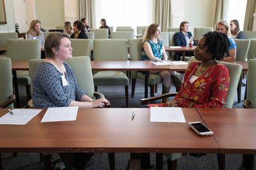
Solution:
M32 20L27 31L28 39L40 39L41 46L44 46L44 34L41 31L41 24L39 20Z

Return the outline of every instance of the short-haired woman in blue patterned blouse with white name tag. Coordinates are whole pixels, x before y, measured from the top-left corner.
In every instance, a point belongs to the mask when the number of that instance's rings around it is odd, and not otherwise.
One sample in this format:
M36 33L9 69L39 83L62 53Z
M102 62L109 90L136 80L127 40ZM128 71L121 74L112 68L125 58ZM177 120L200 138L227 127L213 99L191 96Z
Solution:
M33 78L33 108L79 106L99 108L107 99L93 101L79 87L73 69L65 63L72 59L72 47L67 34L51 32L45 39L46 59ZM84 169L93 153L60 153L66 169ZM74 162L74 164L73 164Z

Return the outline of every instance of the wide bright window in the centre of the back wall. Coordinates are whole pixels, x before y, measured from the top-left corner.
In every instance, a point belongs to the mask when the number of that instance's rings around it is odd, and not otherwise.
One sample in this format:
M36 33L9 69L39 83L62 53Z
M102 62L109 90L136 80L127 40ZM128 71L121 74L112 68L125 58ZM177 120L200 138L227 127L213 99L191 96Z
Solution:
M95 0L97 28L105 18L109 27L131 26L136 34L137 26L152 24L152 0Z

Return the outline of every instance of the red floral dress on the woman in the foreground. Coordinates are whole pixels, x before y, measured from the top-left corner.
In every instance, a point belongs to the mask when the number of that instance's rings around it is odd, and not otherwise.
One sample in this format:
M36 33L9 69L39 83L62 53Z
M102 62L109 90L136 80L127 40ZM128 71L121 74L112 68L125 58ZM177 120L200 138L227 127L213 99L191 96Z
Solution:
M229 85L227 67L218 63L191 83L189 78L200 63L193 62L189 65L180 91L174 100L179 101L178 105L181 108L223 108ZM163 107L164 104L148 104L148 106Z

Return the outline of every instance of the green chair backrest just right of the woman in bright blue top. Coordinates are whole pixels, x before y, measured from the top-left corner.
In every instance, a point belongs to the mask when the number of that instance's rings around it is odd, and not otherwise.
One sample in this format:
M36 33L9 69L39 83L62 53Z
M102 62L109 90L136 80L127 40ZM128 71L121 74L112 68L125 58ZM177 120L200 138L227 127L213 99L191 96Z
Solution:
M234 39L234 41L237 45L236 60L246 60L251 41L249 39Z

